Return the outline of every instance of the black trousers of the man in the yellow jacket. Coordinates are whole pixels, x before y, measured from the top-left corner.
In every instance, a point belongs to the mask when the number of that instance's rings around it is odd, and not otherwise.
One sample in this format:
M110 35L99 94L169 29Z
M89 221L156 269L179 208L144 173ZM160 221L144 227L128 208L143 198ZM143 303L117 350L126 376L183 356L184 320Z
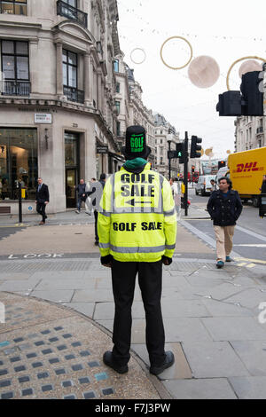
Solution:
M113 260L112 281L115 314L113 321L113 359L124 366L129 362L131 343L131 306L135 282L141 289L146 318L146 346L151 365L160 366L165 359L165 334L160 308L162 263L122 263Z

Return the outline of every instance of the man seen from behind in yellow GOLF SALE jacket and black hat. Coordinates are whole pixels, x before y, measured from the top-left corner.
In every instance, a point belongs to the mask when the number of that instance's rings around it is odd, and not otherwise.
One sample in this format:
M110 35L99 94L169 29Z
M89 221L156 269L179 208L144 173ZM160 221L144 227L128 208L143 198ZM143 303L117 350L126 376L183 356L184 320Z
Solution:
M113 351L106 351L103 360L119 374L129 370L131 306L138 273L150 373L158 375L175 362L173 353L164 350L160 308L162 264L172 263L176 248L175 202L168 180L146 161L151 149L143 127L128 128L122 152L126 163L108 178L98 214L101 263L112 268L115 303Z

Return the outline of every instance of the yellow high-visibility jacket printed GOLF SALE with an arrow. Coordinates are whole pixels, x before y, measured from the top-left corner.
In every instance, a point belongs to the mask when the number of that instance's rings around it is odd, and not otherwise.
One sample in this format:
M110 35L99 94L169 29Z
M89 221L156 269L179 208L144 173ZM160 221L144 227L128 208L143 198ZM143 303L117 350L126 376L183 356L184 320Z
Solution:
M106 181L98 213L101 256L120 262L157 262L176 248L176 209L168 180L151 170L124 168Z

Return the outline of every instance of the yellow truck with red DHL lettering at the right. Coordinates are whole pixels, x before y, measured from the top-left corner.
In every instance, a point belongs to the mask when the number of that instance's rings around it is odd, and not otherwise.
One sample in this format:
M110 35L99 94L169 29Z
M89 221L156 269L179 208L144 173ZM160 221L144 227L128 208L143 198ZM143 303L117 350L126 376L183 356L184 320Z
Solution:
M266 175L266 147L231 153L227 165L233 189L243 201L252 200L258 207L262 176Z

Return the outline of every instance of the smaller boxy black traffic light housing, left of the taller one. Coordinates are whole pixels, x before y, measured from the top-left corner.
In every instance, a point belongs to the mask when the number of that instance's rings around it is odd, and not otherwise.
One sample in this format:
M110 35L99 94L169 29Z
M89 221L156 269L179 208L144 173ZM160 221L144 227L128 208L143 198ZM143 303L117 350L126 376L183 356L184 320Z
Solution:
M219 94L216 110L219 116L240 116L242 114L240 91L226 91Z

